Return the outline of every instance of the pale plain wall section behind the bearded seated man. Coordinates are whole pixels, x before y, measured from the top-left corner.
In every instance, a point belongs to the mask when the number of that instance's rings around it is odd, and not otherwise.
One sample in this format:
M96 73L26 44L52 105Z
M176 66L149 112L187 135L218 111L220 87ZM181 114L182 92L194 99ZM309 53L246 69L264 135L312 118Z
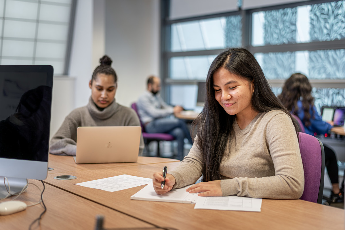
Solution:
M130 106L159 74L158 0L106 0L106 53L118 75L116 101Z

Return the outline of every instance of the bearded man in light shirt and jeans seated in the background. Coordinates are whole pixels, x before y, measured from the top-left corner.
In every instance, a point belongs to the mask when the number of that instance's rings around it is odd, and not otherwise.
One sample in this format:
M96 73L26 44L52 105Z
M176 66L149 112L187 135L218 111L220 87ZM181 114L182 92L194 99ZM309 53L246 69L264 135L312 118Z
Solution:
M183 120L169 117L171 114L179 113L183 110L181 106L169 106L159 96L160 79L150 76L147 80L147 91L142 94L137 107L141 122L148 133L169 133L177 140L177 159L183 160L184 139L187 138L192 144L189 130Z

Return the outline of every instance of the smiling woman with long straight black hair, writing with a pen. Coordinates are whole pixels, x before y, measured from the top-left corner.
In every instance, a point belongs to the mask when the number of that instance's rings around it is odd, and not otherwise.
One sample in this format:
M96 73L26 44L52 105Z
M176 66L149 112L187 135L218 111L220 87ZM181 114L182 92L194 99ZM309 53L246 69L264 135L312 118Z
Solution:
M212 62L206 101L188 156L166 176L154 173L156 193L195 183L199 196L298 199L304 188L297 124L274 95L254 56L229 49Z

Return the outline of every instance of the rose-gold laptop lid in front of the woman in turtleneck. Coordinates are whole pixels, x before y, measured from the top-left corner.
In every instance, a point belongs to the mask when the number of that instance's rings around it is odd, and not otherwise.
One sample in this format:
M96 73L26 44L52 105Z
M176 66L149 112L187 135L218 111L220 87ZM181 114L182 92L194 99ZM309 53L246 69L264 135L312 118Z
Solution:
M136 162L140 126L78 127L76 163Z

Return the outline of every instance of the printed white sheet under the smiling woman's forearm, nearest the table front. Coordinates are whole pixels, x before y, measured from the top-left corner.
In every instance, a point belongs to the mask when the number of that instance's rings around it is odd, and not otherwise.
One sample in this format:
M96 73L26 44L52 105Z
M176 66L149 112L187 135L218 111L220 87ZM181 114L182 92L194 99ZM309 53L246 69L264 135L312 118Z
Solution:
M217 209L234 211L261 211L262 198L249 197L199 197L195 209Z

